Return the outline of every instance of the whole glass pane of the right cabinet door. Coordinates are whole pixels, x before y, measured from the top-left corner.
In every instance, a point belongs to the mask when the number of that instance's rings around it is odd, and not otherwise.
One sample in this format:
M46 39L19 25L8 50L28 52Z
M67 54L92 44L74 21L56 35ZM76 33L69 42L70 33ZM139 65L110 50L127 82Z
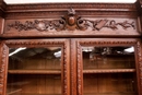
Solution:
M138 95L134 47L82 47L83 95Z

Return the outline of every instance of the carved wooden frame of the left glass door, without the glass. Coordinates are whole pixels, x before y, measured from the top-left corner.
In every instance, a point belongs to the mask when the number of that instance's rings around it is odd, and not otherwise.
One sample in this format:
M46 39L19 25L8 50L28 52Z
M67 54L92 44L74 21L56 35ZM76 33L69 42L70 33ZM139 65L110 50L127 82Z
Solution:
M70 95L70 47L69 40L67 39L24 39L24 40L5 40L1 46L1 93L5 95L7 87L7 73L8 73L8 57L9 57L9 48L12 47L48 47L48 46L61 46L63 50L62 55L62 69L61 69L61 83L62 83L62 95ZM29 73L29 72L28 72ZM33 72L32 72L33 73Z

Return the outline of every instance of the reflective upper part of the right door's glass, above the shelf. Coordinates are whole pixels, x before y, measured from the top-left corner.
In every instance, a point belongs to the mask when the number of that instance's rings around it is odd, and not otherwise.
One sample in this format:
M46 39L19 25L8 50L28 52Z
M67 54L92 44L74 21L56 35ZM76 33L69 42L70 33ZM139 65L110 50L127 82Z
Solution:
M83 47L84 69L133 69L133 47Z

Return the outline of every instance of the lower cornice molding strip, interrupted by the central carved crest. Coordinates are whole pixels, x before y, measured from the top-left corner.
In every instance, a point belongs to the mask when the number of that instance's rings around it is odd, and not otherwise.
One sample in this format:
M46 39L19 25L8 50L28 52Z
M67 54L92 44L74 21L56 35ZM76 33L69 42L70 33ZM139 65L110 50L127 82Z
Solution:
M85 16L138 16L137 11L92 11L92 10L83 10L83 11L78 11L78 14L80 15L85 15ZM50 17L50 16L61 16L64 15L66 11L38 11L38 12L8 12L4 16L7 19L14 19L14 17L20 17L20 19L25 19L25 17Z

